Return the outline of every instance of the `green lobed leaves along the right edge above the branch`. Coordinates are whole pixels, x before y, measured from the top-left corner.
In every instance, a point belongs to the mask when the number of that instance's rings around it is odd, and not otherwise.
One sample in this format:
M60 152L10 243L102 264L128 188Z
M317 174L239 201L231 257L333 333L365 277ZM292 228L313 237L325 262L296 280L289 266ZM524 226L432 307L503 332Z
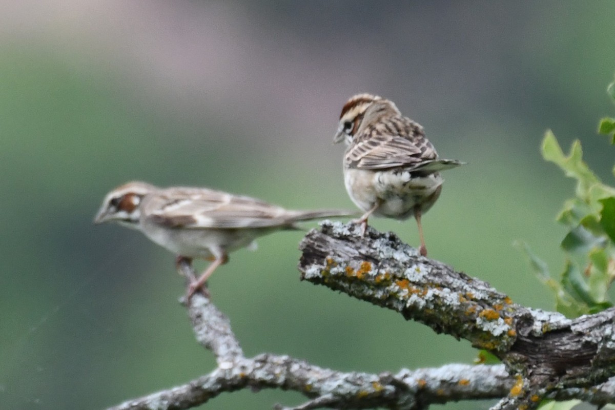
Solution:
M615 82L607 91L615 101ZM602 119L598 132L611 135L611 144L615 144L615 118ZM564 202L557 216L557 221L568 228L560 244L566 254L561 279L555 280L546 263L525 243L520 245L534 273L554 292L558 312L567 317L613 306L608 290L615 278L615 187L600 181L582 156L578 140L566 155L555 135L547 131L542 141L542 157L558 165L577 183L574 197Z

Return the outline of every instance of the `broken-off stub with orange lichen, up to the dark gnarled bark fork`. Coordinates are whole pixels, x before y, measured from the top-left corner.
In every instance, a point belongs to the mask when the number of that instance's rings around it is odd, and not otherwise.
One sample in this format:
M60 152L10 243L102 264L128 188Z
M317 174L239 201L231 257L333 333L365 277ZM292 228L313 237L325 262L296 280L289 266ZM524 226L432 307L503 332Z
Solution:
M390 232L370 227L361 237L355 224L323 223L300 248L305 280L396 310L479 349L506 352L516 340L516 315L530 315L488 283L419 256Z

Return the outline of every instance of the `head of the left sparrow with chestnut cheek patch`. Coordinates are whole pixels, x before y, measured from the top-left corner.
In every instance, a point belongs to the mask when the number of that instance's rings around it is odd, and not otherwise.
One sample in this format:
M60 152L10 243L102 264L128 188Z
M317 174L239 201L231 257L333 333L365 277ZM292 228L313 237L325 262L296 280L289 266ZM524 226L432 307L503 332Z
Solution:
M141 216L140 205L145 195L157 188L153 185L133 181L109 192L101 205L95 224L114 221L121 225L137 229Z

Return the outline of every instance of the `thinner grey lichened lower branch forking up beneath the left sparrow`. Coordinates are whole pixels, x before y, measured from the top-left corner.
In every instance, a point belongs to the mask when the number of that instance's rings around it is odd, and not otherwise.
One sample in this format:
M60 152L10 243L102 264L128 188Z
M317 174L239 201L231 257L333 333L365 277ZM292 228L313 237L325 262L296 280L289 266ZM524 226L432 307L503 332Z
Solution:
M184 267L184 269L188 269ZM126 401L108 410L188 409L242 388L303 393L300 408L423 409L432 403L498 398L514 384L503 365L447 365L368 374L339 372L285 355L245 358L228 318L205 296L184 301L197 340L216 355L218 368L185 385Z

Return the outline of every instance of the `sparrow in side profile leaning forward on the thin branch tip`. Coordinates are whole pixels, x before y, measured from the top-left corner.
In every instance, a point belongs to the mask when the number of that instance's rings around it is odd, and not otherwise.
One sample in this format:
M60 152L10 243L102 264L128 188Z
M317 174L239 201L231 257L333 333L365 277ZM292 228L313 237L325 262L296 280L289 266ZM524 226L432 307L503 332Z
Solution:
M130 182L109 192L94 223L114 221L137 229L181 261L203 258L212 263L198 278L189 278L188 298L213 271L228 261L230 251L250 245L269 232L297 229L296 222L348 211L289 211L250 197L205 188L159 188Z

